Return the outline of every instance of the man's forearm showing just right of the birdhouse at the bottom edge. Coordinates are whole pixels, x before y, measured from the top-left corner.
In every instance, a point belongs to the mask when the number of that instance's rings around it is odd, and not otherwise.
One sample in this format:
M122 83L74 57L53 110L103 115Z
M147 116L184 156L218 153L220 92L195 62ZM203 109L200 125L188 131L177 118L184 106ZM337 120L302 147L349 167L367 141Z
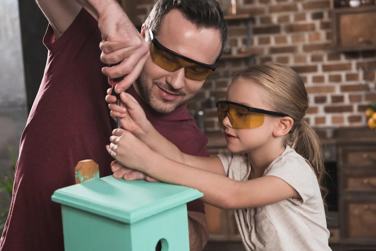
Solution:
M202 251L209 238L205 214L188 211L188 230L190 251Z

